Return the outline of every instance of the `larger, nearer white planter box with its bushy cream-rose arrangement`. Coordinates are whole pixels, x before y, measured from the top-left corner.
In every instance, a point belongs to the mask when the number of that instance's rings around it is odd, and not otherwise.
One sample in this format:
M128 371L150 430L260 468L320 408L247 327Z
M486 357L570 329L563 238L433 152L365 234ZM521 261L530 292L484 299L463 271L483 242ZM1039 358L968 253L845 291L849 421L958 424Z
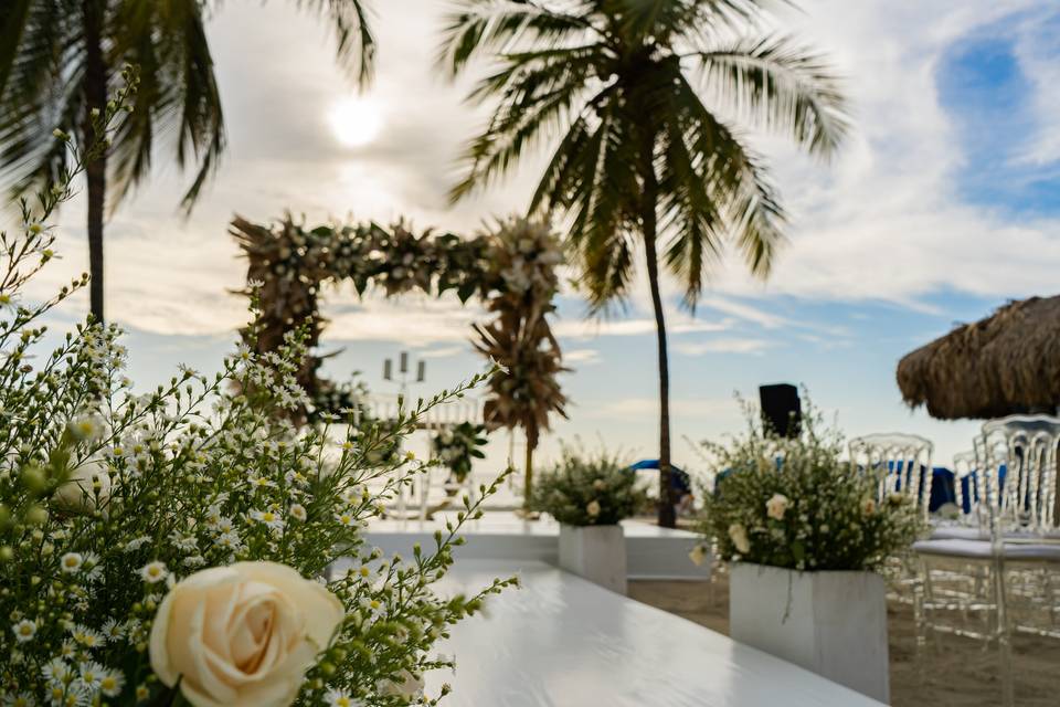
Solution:
M880 572L915 539L915 509L903 495L880 497L813 408L794 439L749 416L745 435L706 445L718 481L702 531L732 562L731 634L887 701Z

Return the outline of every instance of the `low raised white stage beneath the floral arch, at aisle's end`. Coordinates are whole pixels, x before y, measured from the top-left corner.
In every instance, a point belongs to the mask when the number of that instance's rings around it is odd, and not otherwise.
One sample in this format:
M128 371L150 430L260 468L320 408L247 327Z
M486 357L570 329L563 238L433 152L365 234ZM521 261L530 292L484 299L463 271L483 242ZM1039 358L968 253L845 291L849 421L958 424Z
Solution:
M455 516L439 513L434 520L373 520L364 539L386 556L412 557L412 546L417 542L424 551L431 551L434 532L445 532L446 520L455 521ZM629 579L710 579L710 562L696 566L688 557L700 541L696 534L636 520L625 520L622 526ZM560 524L551 518L523 520L513 513L486 511L481 519L464 524L459 535L467 542L455 548L453 556L457 559L559 561Z

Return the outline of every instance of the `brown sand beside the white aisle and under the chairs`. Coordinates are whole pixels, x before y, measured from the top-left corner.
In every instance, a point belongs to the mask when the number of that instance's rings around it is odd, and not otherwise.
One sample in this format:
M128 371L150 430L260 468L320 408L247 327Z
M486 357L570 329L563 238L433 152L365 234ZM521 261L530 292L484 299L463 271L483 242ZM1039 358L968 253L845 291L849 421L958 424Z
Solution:
M719 574L712 584L711 590L706 582L630 582L629 597L728 635L728 574ZM929 644L923 653L926 677L921 678L915 663L911 609L890 605L888 629L892 705L994 707L1000 704L996 647L984 650L982 642L940 636L937 644ZM1060 705L1060 641L1016 636L1014 650L1016 704L1020 707Z

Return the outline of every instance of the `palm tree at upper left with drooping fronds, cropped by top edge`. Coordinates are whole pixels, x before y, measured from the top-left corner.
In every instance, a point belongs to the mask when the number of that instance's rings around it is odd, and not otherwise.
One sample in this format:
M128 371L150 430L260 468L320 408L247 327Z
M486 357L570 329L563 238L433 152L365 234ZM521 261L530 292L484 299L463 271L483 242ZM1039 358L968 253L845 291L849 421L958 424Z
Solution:
M362 0L296 0L326 14L338 56L362 82L374 43ZM209 0L6 0L0 4L0 170L21 193L54 181L66 167L60 129L93 141L116 68L137 67L132 110L113 150L85 173L92 314L104 319L103 225L130 188L149 173L158 143L177 165L195 170L182 205L192 208L225 147L221 96L206 42ZM109 193L108 193L109 188Z

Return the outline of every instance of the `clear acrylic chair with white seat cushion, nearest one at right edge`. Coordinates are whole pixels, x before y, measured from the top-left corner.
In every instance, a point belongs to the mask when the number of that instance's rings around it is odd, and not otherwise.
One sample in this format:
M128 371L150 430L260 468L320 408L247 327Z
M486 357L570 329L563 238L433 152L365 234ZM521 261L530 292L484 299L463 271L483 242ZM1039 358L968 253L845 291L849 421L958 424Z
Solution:
M1053 635L1057 626L1058 443L1057 418L1013 415L985 423L975 439L975 473L987 532L913 546L923 587L918 645L929 631L982 639L985 646L996 642L1006 706L1015 703L1013 631ZM965 581L952 581L962 574Z

